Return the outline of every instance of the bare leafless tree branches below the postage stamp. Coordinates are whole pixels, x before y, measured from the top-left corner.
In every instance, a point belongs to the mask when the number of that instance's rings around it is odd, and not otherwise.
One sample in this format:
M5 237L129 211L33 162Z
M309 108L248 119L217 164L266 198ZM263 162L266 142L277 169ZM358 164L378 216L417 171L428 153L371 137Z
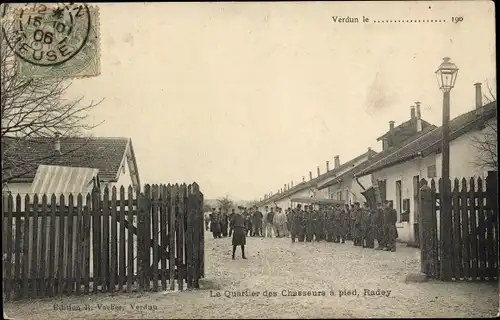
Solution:
M3 11L0 7L0 12ZM9 44L14 43L12 23L2 21L0 33L0 89L1 89L1 140L2 140L2 184L13 178L36 170L30 163L50 162L55 154L41 159L21 159L15 155L19 148L33 138L54 139L55 134L64 137L84 137L97 125L88 119L91 109L99 102L84 103L83 97L68 99L67 90L71 82L59 78L25 78L19 73L19 60ZM45 143L47 139L41 139ZM80 149L83 145L80 145ZM64 154L75 150L65 150ZM27 162L29 161L29 163ZM7 174L13 169L15 176Z

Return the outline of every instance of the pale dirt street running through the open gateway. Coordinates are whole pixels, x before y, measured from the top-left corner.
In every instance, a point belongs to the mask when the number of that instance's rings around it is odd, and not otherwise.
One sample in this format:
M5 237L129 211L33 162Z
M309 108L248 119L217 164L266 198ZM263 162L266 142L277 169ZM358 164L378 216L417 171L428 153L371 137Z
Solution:
M230 239L206 239L207 279L220 290L108 294L4 305L14 319L491 317L498 286L405 283L418 249L395 253L352 243L247 238L247 260L231 260ZM332 295L333 294L333 295ZM253 296L252 296L253 295ZM59 310L60 307L80 310ZM56 310L57 309L57 310ZM87 309L87 310L85 310ZM92 309L92 310L88 310Z

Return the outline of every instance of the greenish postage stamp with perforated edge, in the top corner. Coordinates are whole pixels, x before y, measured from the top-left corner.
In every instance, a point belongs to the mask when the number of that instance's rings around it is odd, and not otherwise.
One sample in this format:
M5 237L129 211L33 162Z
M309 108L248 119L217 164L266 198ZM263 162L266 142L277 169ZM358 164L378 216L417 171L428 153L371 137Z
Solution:
M100 74L99 10L75 3L6 5L2 33L22 77Z

